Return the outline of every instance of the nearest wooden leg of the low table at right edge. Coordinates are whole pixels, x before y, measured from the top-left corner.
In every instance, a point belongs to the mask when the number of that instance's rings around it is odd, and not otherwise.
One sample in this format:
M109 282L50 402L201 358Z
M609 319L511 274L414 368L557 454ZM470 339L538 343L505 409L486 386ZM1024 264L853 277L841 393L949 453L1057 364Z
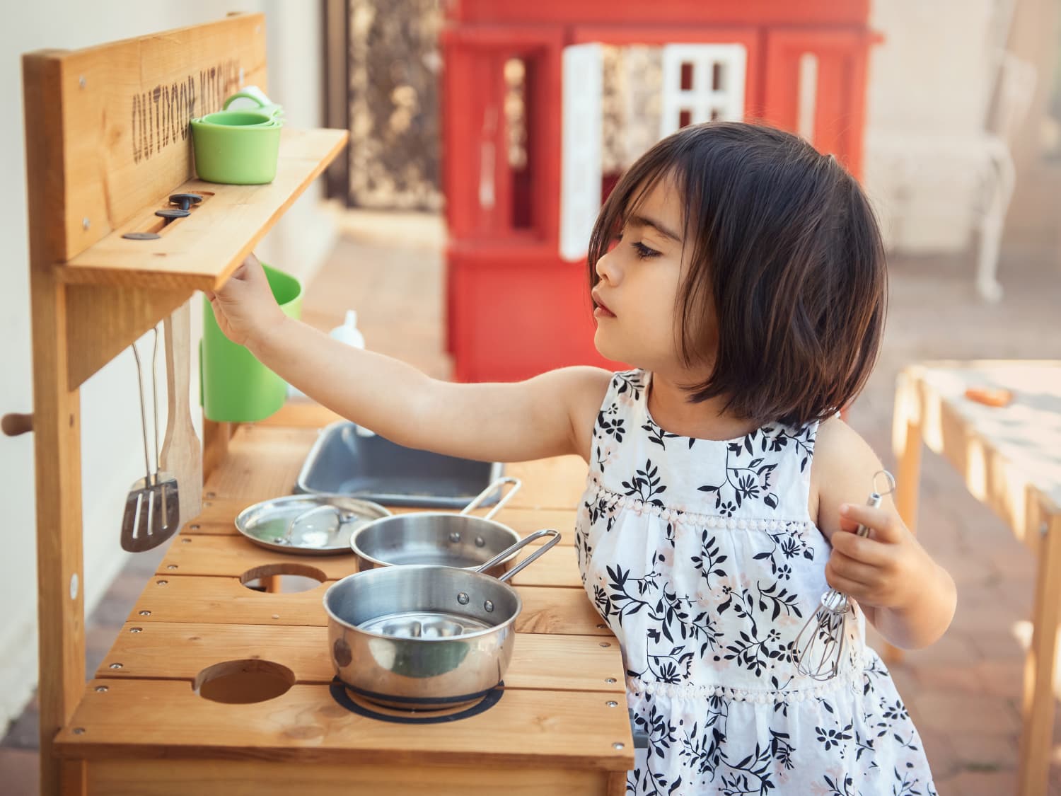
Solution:
M1031 648L1024 663L1020 796L1046 793L1054 745L1054 665L1061 621L1061 515L1050 517L1039 548Z

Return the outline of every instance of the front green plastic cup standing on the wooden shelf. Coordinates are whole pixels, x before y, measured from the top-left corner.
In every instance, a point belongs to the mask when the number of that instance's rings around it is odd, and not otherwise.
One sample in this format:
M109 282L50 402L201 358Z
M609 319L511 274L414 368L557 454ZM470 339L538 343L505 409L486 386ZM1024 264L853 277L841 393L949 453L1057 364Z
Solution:
M261 110L192 119L195 173L207 183L264 185L276 177L282 122Z

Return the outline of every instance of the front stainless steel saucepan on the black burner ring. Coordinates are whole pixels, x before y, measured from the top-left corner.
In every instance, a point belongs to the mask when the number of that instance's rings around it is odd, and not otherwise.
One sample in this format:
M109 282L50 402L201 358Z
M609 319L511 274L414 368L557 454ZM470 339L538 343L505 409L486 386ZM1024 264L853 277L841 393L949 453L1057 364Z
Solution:
M486 574L542 536L553 538L500 579ZM538 531L477 570L410 565L336 581L324 604L340 679L371 702L406 710L480 698L504 677L523 607L504 581L559 540L557 531Z

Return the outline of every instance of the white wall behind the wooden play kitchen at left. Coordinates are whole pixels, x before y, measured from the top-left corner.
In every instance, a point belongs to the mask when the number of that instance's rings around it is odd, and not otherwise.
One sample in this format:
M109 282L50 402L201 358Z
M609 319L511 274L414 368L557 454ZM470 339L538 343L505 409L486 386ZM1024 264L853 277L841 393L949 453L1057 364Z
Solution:
M266 14L269 94L286 109L292 126L319 126L321 53L319 3L310 0L209 0L143 3L135 0L35 0L5 4L0 27L0 240L4 243L0 290L0 414L33 408L30 293L27 252L21 53L41 48L79 49L219 19L229 11ZM303 279L334 242L314 187L262 241L259 254ZM193 302L193 338L202 328ZM144 340L150 341L150 335ZM150 345L141 341L141 351ZM160 346L161 348L161 346ZM193 339L193 350L197 350ZM161 357L160 357L161 359ZM193 361L193 406L198 403ZM164 369L159 401L164 414ZM85 600L91 611L128 554L119 546L125 492L142 473L136 370L129 352L120 356L82 388L82 487L85 524ZM195 413L197 414L197 413ZM162 419L164 428L164 417ZM0 730L21 711L36 685L36 564L33 437L0 436Z

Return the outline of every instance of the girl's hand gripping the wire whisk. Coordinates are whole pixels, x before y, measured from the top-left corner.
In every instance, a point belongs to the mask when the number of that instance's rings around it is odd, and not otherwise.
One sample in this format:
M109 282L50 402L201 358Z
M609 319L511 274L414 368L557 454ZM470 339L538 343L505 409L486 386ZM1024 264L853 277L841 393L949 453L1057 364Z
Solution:
M858 525L869 536L855 534ZM825 581L860 604L905 608L917 601L919 585L936 564L893 512L868 505L840 506L840 530L831 539Z

